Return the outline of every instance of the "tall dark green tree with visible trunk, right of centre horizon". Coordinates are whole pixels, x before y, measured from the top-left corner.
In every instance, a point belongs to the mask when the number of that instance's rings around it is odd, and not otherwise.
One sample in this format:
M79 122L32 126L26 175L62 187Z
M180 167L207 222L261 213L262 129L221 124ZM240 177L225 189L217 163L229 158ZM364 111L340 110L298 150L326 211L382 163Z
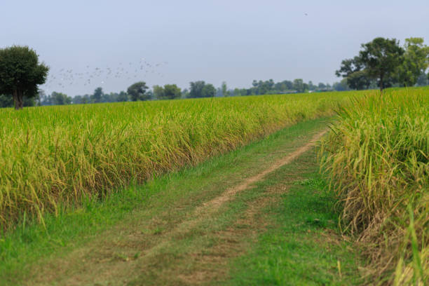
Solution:
M380 91L393 83L397 69L402 64L404 49L396 39L376 38L362 44L359 57L365 65L365 71L371 79L379 83Z

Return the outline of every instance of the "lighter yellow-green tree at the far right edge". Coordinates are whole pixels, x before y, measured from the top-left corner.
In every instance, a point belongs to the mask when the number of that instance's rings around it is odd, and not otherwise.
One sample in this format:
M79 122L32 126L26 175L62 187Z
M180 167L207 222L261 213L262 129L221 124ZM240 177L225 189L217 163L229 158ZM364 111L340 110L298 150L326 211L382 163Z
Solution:
M398 80L403 86L414 86L429 65L429 47L423 38L405 39L405 53L398 67Z

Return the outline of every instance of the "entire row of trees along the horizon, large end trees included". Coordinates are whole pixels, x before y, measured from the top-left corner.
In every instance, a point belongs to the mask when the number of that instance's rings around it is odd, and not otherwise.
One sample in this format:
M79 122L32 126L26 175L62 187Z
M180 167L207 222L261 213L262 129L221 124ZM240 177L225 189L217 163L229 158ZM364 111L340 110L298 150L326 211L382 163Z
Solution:
M68 95L54 91L46 95L38 85L46 81L48 67L38 62L38 55L27 46L12 46L0 49L0 107L31 107L35 105L88 104L100 102L128 102L140 100L174 100L177 98L227 97L266 95L281 93L307 93L324 91L362 90L369 88L427 86L429 74L429 47L422 38L409 38L404 46L396 39L376 38L362 44L359 54L343 60L335 72L343 79L329 83L313 84L302 79L274 82L252 81L250 88L228 88L226 82L214 88L205 81L189 83L182 90L175 84L154 86L153 90L144 81L133 83L126 91L104 93L96 88L91 95ZM23 69L22 67L25 67Z

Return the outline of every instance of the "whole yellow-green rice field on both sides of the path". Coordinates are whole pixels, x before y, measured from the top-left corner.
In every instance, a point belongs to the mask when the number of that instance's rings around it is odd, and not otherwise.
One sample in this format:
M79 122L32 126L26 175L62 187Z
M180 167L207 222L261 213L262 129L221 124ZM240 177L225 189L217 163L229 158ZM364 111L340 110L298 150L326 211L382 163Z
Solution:
M0 229L334 116L321 169L381 285L429 281L429 89L0 109Z

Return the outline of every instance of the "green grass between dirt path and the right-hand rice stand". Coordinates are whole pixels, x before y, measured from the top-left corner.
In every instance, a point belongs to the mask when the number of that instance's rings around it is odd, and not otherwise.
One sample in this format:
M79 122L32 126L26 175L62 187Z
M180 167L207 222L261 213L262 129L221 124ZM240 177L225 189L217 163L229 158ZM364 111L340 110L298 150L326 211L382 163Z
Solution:
M291 180L291 173L298 177ZM219 284L360 284L357 268L363 262L339 235L336 198L326 191L313 151L275 172L255 191L277 184L290 187L266 207L264 219L270 222L266 231L250 252L231 263L231 278Z

